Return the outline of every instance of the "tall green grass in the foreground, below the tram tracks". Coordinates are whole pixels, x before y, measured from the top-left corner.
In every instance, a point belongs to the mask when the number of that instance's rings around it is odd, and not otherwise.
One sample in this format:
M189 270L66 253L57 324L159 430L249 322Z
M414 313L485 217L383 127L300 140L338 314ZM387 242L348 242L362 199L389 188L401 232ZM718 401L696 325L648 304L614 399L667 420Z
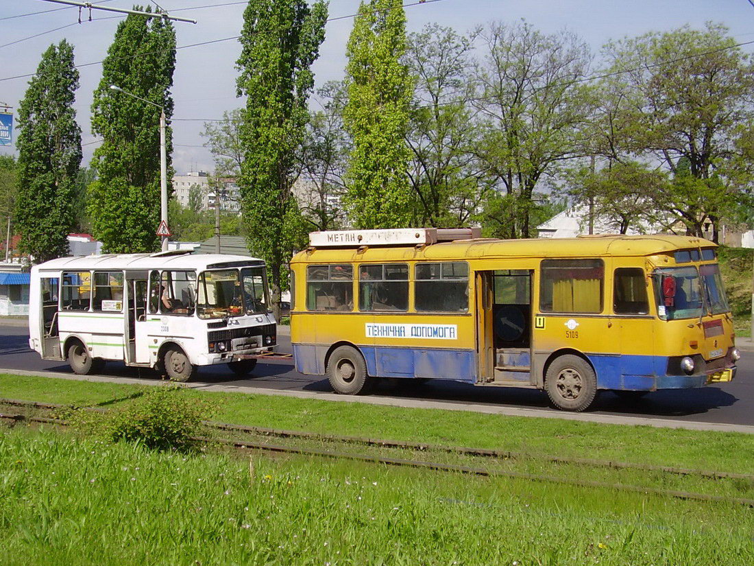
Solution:
M750 509L0 434L4 564L754 563Z

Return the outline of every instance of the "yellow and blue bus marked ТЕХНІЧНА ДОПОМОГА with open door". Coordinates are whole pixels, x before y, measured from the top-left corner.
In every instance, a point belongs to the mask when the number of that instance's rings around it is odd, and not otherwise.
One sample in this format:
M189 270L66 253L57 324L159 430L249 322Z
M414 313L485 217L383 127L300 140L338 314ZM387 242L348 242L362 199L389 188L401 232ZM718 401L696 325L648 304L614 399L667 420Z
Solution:
M730 381L740 353L715 248L675 235L313 232L291 261L296 369L345 394L372 377L544 389L570 411L601 389Z

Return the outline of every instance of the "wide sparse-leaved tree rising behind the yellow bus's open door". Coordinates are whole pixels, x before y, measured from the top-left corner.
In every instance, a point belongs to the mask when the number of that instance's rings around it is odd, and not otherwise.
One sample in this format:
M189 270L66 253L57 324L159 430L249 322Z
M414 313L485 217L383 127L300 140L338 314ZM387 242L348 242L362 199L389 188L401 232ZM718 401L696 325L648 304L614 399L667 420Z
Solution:
M475 152L499 191L486 199L483 219L492 235L529 238L544 180L583 155L581 132L594 100L579 79L587 76L590 51L570 32L545 35L526 22L491 23L480 38Z

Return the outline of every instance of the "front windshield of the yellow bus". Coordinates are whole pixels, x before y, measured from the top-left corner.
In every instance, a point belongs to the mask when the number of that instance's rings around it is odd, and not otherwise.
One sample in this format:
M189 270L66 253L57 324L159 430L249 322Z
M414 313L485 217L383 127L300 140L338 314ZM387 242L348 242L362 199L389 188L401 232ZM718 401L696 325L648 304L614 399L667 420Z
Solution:
M672 297L664 293L663 281L672 277ZM698 318L709 311L713 315L728 312L728 300L716 264L696 267L666 267L654 272L654 295L657 313L664 320Z

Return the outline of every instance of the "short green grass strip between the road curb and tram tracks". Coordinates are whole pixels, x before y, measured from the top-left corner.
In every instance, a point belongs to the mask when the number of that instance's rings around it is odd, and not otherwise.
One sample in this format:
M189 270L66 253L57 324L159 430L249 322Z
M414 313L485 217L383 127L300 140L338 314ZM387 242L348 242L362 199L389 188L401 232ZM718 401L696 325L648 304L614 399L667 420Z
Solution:
M0 374L0 397L115 407L141 386ZM186 390L227 423L750 473L754 435Z

